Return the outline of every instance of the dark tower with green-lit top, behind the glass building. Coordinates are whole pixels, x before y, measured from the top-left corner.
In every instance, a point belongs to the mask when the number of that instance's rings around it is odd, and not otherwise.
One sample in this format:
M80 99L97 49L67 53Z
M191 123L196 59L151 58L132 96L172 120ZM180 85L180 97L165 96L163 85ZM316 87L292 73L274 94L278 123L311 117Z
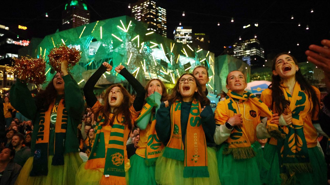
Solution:
M73 0L65 5L62 12L62 30L76 28L88 24L89 21L90 14L82 0Z

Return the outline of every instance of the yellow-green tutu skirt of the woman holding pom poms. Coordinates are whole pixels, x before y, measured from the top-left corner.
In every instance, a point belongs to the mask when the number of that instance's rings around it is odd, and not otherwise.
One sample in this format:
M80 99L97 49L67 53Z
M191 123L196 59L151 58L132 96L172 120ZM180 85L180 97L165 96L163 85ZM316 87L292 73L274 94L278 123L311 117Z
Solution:
M31 177L33 157L30 157L21 169L15 185L67 185L75 184L76 173L82 164L79 152L64 154L64 165L51 165L53 156L48 156L48 175Z

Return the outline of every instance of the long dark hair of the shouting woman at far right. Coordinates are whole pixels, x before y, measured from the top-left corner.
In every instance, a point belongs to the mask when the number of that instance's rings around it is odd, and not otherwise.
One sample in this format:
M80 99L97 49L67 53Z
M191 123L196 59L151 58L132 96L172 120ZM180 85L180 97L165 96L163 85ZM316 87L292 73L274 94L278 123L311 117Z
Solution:
M273 65L272 65L272 70L275 70L276 67L276 59L278 57L280 57L281 55L289 55L290 57L292 57L294 63L296 65L298 65L298 61L296 58L294 58L290 53L280 53L278 55L275 56L275 58L273 59ZM296 77L296 81L300 84L300 88L302 91L304 91L305 93L307 93L308 95L308 100L310 100L310 98L312 99L313 103L313 109L312 109L312 115L314 115L315 111L316 111L316 107L319 107L320 104L318 102L318 98L316 96L315 90L313 89L313 87L307 82L307 80L304 78L304 76L301 74L300 69L298 68L298 71L295 74ZM272 104L271 104L271 108L273 108L275 106L275 110L276 112L281 115L286 107L289 107L290 102L288 100L286 100L284 98L284 94L283 91L281 90L280 87L282 83L282 79L280 77L280 75L272 75L272 83L268 86L269 89L272 90ZM284 87L282 87L284 88ZM293 111L293 110L291 110ZM309 110L310 111L310 110Z

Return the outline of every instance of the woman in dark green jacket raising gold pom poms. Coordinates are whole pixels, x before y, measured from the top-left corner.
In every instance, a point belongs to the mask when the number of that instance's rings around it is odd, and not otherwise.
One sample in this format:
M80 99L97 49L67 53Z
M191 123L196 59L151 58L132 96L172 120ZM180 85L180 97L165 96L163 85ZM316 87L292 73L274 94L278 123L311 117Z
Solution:
M10 89L13 106L34 124L31 157L17 177L17 185L75 184L76 172L82 164L77 126L84 101L67 68L68 62L62 61L61 72L35 99L24 79L17 79Z

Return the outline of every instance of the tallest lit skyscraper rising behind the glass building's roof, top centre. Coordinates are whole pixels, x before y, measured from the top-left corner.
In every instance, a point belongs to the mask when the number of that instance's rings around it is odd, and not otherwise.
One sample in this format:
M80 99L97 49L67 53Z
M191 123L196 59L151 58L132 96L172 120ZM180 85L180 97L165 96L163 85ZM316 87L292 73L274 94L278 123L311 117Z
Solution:
M166 10L157 6L156 0L139 0L132 5L132 17L149 24L148 30L167 37Z

